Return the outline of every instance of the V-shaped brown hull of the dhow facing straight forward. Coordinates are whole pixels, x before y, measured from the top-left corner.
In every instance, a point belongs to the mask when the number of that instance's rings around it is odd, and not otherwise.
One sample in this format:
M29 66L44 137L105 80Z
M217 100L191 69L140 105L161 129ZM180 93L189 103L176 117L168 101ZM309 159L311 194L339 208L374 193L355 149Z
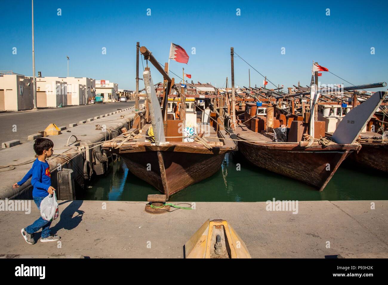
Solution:
M122 153L129 171L166 195L172 194L215 174L225 153L150 151Z

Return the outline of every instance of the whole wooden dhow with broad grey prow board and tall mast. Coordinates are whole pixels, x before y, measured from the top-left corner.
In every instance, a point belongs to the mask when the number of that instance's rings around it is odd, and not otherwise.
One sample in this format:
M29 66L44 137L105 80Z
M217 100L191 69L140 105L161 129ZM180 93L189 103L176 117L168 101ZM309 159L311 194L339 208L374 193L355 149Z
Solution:
M234 51L231 48L232 103L234 106ZM322 191L341 162L361 145L356 142L361 130L379 107L385 92L376 92L343 117L331 138L325 137L323 121L315 118L321 93L315 90L317 73L312 76L310 92L271 97L262 102L246 103L244 118L234 110L230 114L231 130L236 135L239 152L252 164L302 181ZM345 87L356 90L386 86L386 83ZM337 89L337 88L334 88ZM339 89L339 88L338 88ZM337 91L337 90L334 90ZM338 90L339 91L339 90ZM308 98L306 95L310 95ZM285 98L303 97L310 101L310 112L286 117L277 107ZM275 104L274 104L275 99ZM304 108L304 106L303 106ZM241 122L241 123L240 123Z

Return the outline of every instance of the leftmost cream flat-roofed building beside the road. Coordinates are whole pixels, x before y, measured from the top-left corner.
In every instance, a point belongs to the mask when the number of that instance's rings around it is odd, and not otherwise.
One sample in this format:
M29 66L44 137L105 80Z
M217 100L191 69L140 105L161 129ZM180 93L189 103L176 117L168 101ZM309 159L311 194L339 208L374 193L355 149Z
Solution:
M12 71L0 71L0 111L34 107L32 79Z

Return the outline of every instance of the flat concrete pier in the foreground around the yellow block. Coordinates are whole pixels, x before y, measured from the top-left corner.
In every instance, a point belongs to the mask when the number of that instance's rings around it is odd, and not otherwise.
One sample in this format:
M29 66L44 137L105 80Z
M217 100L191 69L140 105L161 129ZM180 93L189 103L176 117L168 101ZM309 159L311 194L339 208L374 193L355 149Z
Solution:
M31 214L1 211L0 255L182 258L183 245L198 228L222 218L256 258L388 257L386 200L300 201L298 214L267 211L266 202L197 202L194 210L160 215L146 213L146 202L59 204L60 217L51 228L62 237L60 244L41 243L40 232L36 244L24 241L21 228L39 217L33 202Z

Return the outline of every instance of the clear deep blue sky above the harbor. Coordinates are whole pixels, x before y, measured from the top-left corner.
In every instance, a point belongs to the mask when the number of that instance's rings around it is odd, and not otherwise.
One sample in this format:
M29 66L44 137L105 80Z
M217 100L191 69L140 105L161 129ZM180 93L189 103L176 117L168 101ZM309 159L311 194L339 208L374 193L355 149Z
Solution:
M0 70L31 76L31 1L1 2ZM62 16L57 16L58 8ZM182 76L184 67L192 74L189 80L217 87L226 77L230 84L230 47L275 85L288 87L298 80L308 85L312 60L355 85L388 81L387 12L386 2L380 1L35 0L35 70L36 75L66 76L69 55L69 76L106 79L133 90L136 42L163 64L173 42L190 58L187 65L171 60L170 70ZM248 86L250 67L238 57L234 63L235 84ZM152 67L151 74L154 82L161 81ZM320 79L349 85L330 73ZM262 82L251 69L251 85Z

